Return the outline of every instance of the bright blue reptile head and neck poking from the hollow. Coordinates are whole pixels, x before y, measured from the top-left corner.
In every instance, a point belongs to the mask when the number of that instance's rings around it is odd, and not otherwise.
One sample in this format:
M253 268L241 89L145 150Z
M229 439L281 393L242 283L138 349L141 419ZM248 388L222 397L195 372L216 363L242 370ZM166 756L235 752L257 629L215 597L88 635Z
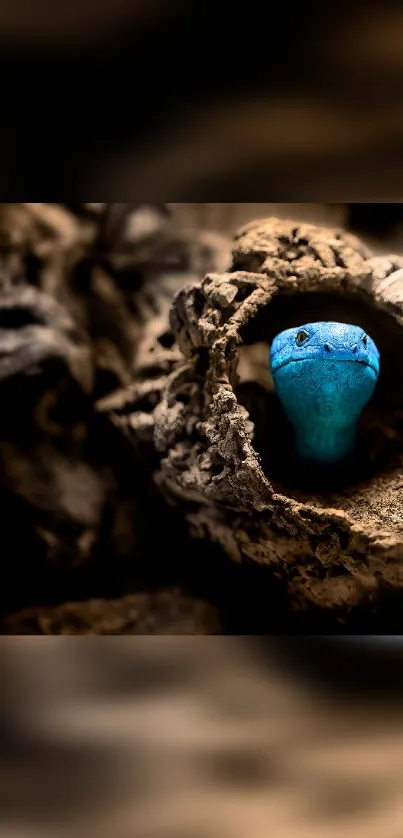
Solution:
M379 375L379 352L369 335L347 323L286 329L272 343L270 368L298 456L330 465L350 455Z

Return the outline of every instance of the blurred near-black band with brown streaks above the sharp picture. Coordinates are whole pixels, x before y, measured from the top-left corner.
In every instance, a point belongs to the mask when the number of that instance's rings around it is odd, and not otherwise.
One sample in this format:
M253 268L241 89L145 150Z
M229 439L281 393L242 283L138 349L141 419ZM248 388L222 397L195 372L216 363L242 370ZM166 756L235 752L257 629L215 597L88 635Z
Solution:
M402 24L390 2L0 5L3 195L399 200Z

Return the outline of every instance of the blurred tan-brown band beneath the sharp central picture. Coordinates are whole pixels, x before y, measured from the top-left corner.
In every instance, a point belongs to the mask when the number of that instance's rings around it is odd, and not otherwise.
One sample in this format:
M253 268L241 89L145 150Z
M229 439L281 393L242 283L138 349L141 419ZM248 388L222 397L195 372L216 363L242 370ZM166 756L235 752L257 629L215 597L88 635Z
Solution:
M3 641L1 838L401 838L401 702L286 645Z

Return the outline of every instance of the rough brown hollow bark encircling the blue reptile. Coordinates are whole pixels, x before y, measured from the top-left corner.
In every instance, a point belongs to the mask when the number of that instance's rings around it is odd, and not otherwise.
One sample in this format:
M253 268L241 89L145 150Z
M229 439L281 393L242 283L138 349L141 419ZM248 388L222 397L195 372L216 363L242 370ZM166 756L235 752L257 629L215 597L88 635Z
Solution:
M182 357L155 408L156 480L171 501L191 504L193 533L280 573L296 607L333 609L341 620L403 586L401 265L338 230L275 218L247 225L231 269L176 296ZM287 473L270 380L266 389L255 382L259 398L246 409L237 376L245 347L268 351L282 329L318 319L362 325L382 358L361 429L366 466L326 489Z

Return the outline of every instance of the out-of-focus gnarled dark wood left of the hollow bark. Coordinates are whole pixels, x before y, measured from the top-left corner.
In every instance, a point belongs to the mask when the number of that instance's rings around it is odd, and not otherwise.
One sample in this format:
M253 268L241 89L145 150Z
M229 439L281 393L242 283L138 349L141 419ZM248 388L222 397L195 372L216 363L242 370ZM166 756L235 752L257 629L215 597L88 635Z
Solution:
M139 527L156 497L151 451L102 400L126 405L132 387L137 404L155 383L159 398L177 357L172 297L227 247L207 239L178 231L161 204L0 205L3 613L125 593L129 556L128 591L142 586L158 551Z

